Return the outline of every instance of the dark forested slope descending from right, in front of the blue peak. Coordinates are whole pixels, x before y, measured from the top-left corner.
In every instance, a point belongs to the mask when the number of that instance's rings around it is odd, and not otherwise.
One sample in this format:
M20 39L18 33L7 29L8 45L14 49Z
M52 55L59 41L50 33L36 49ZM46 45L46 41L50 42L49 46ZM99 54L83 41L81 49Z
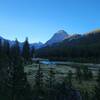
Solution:
M67 36L59 43L38 49L36 56L53 60L78 58L85 61L100 61L100 30Z

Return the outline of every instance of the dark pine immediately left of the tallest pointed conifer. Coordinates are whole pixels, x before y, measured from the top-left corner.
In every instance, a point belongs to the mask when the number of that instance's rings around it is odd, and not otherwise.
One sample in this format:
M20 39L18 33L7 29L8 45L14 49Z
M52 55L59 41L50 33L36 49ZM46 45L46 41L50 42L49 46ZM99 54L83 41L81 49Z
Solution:
M16 40L11 48L11 67L10 67L10 83L12 88L11 100L31 100L30 86L27 82L26 74L20 56L19 43Z

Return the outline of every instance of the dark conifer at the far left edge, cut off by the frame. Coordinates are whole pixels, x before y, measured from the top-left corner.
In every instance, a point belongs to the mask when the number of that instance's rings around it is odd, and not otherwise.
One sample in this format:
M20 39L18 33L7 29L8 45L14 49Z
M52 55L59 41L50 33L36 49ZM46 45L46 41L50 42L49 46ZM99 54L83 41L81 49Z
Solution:
M9 58L7 54L7 41L0 40L0 99L9 99L9 89L8 87L8 68L9 68Z

